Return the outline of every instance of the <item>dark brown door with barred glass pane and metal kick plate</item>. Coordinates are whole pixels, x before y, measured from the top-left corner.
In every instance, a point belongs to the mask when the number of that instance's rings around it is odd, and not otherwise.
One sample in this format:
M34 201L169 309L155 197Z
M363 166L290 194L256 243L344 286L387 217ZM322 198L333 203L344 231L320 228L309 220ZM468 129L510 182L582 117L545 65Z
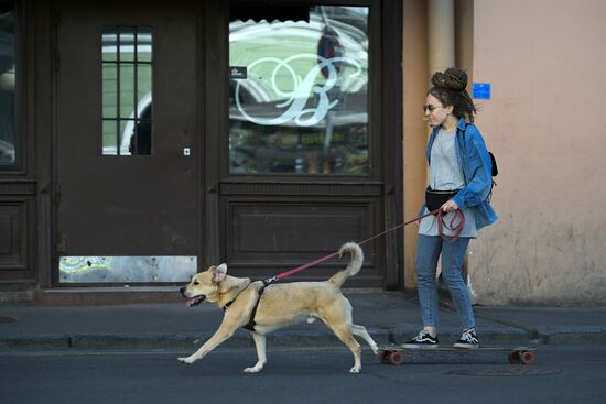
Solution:
M175 283L196 272L196 8L55 3L55 283Z

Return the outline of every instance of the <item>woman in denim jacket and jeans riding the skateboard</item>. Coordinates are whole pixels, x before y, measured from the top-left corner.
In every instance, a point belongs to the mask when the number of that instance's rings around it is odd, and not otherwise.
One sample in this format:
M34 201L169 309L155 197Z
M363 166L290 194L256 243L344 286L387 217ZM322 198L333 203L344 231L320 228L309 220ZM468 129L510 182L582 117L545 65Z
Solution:
M451 67L444 73L435 73L431 83L433 87L423 106L425 120L432 128L426 146L430 164L426 201L436 195L432 193L435 190L442 192L442 196L446 194L447 200L437 205L443 217L431 215L419 226L416 275L423 329L403 347L439 346L435 271L442 255L442 280L463 327L461 339L454 346L477 348L479 339L462 266L469 240L477 237L479 229L497 220L488 201L493 185L490 156L481 134L473 124L476 108L466 90L465 72ZM426 205L421 214L429 212ZM453 223L463 225L458 237L453 237L453 230L448 228Z

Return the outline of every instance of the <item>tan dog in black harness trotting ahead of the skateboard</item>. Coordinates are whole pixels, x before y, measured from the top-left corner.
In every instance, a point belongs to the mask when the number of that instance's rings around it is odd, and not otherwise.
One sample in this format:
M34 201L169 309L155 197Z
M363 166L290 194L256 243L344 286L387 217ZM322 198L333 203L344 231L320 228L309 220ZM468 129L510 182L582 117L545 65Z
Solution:
M210 266L196 274L181 288L181 294L188 298L187 305L195 306L208 301L224 308L225 315L215 335L195 353L178 358L178 361L193 363L230 338L238 328L251 325L253 329L250 334L257 347L258 362L255 367L245 369L245 372L257 373L267 363L266 335L312 316L322 319L349 347L355 358L354 368L349 372L358 373L361 369L361 348L353 335L364 338L375 353L377 345L365 327L351 323L351 304L340 293L343 283L359 272L364 253L354 242L344 244L339 256L344 252L351 254L347 267L328 281L271 284L264 288L260 298L259 292L263 282L229 276L226 264ZM257 312L253 314L257 303Z

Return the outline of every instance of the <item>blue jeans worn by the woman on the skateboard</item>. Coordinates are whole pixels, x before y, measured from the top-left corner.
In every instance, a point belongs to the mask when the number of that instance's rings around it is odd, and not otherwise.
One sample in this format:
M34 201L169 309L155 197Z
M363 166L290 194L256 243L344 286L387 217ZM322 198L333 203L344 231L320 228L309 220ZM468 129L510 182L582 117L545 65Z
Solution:
M468 237L450 243L440 236L419 234L416 249L416 277L423 326L437 327L437 288L435 270L442 254L442 281L448 288L456 313L464 328L475 327L469 291L463 280L463 260L469 244Z

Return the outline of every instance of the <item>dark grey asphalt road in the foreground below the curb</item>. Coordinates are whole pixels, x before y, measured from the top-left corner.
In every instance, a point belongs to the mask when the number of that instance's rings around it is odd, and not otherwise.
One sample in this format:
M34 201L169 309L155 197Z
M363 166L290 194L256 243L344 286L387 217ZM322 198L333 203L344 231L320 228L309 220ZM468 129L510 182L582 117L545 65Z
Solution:
M255 349L190 352L64 351L0 354L0 403L604 403L606 346L541 346L532 365L504 352L415 354L401 367L365 350L349 374L346 349L268 349L260 374L242 369Z

